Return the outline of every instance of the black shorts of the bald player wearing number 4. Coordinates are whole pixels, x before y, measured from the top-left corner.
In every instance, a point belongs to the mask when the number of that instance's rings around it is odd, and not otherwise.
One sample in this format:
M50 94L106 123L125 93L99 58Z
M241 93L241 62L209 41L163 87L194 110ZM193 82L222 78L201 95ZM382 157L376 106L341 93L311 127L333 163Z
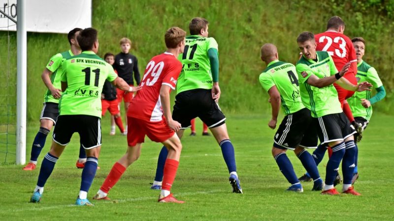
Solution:
M307 108L286 115L275 133L273 146L294 150L299 145L317 148L316 120Z

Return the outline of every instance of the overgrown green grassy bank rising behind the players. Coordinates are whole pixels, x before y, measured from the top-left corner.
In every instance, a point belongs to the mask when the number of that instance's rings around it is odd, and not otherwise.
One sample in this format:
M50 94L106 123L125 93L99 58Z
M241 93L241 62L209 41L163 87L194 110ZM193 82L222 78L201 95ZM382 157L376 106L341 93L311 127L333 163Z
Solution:
M260 47L274 43L281 60L298 59L296 37L301 31L323 32L328 18L341 16L345 34L366 39L364 60L380 74L388 91L394 88L393 0L225 1L225 0L93 0L93 27L99 30L99 55L118 53L120 38L132 40L132 52L143 72L147 61L165 50L164 32L171 26L188 31L193 17L210 22L209 35L219 43L221 108L230 112L267 112L268 96L258 76L265 68ZM1 35L3 33L0 33ZM45 86L40 75L48 59L66 51L64 34L28 34L28 119L37 120ZM378 103L390 110L393 96ZM381 106L389 105L389 108Z

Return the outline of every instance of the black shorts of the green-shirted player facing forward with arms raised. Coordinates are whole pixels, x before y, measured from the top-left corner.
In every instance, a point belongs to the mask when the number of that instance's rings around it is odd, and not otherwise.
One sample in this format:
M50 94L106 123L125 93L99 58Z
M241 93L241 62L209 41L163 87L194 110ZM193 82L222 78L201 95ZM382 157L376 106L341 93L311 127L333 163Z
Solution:
M356 133L356 130L350 125L349 119L343 112L318 117L317 120L318 136L322 144L343 141Z

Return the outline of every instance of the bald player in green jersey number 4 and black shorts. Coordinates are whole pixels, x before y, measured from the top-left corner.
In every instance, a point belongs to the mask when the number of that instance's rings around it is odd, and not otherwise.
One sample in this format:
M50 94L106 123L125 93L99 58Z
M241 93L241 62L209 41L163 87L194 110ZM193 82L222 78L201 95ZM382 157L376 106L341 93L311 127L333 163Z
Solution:
M267 68L260 75L259 81L269 94L272 108L272 118L268 126L275 129L281 106L286 115L275 133L272 156L291 184L287 190L303 192L293 165L286 155L286 150L289 149L294 150L302 165L313 177L312 191L321 191L324 186L323 180L320 178L313 157L305 150L305 148L317 147L315 119L311 116L311 111L301 102L296 67L291 63L279 61L278 51L273 44L263 45L261 58Z

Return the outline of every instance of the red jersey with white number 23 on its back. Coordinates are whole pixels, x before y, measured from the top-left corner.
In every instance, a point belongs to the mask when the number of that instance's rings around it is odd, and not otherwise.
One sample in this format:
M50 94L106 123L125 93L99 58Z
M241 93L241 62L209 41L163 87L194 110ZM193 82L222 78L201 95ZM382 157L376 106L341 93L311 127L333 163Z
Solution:
M347 62L352 62L348 72L345 75L357 74L357 57L356 50L350 38L336 31L326 31L315 35L317 43L316 51L325 51L331 55L334 60L335 67L338 71Z

